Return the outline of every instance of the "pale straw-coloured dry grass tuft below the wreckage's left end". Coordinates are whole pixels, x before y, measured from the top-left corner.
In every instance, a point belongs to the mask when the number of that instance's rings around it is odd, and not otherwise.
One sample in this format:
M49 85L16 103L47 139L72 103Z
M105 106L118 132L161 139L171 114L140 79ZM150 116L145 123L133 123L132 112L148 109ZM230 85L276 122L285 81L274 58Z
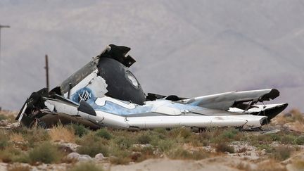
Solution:
M57 125L49 131L51 140L53 141L65 141L65 142L75 142L75 134L72 129L63 127L63 125Z

